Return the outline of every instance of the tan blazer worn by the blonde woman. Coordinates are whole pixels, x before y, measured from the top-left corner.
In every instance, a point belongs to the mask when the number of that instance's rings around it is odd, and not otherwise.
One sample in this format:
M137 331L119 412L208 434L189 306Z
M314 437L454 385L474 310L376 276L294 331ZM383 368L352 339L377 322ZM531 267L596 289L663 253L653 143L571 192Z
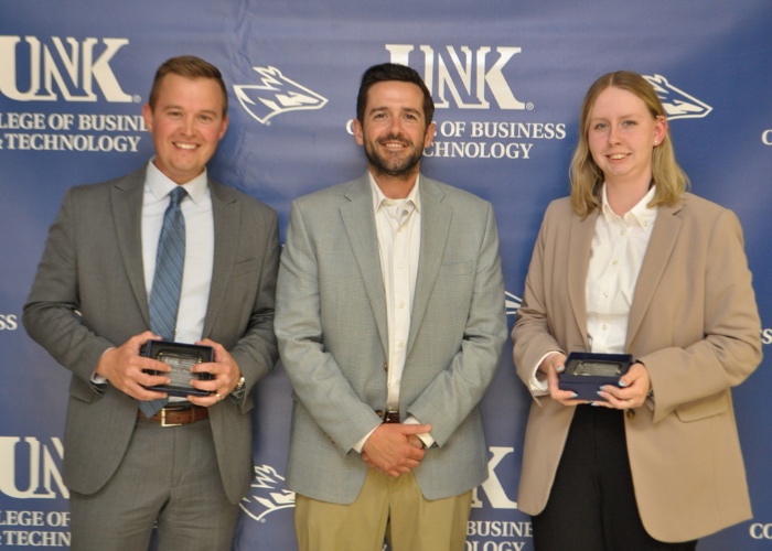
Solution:
M568 198L545 214L512 332L526 382L549 350L586 352L585 283L598 213ZM648 369L654 400L625 414L641 519L662 541L685 541L751 517L730 388L761 361L761 322L742 230L731 210L691 194L660 207L641 267L625 352ZM535 398L519 508L549 497L575 408Z

